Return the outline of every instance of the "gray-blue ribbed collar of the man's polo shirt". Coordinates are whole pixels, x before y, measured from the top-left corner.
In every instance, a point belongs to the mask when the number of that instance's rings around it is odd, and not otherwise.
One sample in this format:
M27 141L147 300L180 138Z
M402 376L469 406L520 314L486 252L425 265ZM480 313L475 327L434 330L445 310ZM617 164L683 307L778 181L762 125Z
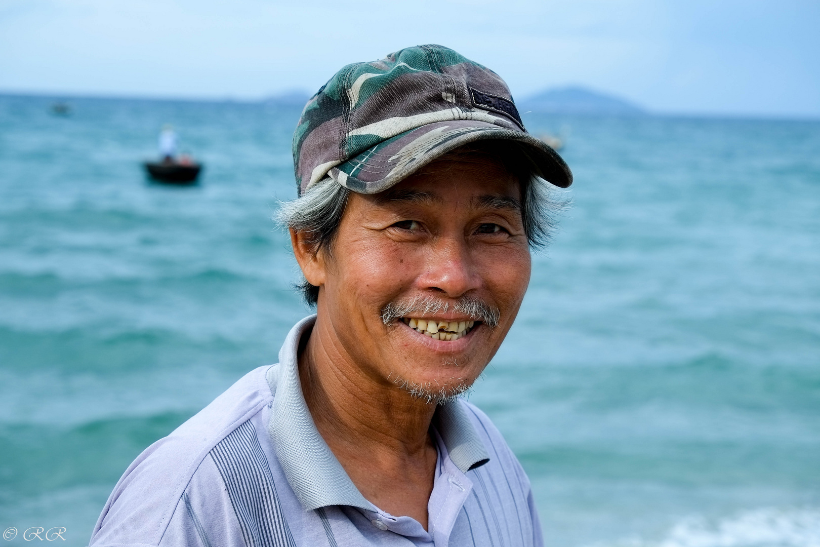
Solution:
M307 409L298 374L298 347L309 333L316 315L305 317L290 330L279 352L279 365L271 367L267 381L274 395L267 431L276 456L299 502L307 510L328 505L350 505L376 511L362 496L319 434ZM440 404L433 426L447 447L449 459L461 472L490 461L475 427L460 400Z

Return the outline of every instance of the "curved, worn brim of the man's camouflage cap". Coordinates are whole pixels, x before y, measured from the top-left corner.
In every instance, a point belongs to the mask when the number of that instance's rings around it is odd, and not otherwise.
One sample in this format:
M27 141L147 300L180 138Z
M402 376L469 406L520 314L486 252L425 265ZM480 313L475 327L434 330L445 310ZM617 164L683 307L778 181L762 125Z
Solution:
M567 188L572 171L553 148L531 134L475 120L439 121L405 131L330 169L336 182L358 194L378 194L464 144L505 139L522 145L539 175Z

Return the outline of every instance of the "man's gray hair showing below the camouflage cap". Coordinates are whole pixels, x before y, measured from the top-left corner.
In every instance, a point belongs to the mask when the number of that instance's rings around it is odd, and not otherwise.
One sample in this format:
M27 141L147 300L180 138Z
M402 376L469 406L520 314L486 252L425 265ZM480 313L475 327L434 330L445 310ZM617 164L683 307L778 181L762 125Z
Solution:
M484 140L457 148L444 157L457 161L489 157L500 162L522 185L521 215L530 248L537 250L549 244L557 227L556 213L570 202L557 197L559 190L538 174L535 162L524 148L512 141ZM276 221L285 229L307 235L307 244L312 246L314 253L330 253L350 192L328 176L312 185L299 198L281 203ZM302 280L296 289L309 306L316 305L319 298L317 286Z

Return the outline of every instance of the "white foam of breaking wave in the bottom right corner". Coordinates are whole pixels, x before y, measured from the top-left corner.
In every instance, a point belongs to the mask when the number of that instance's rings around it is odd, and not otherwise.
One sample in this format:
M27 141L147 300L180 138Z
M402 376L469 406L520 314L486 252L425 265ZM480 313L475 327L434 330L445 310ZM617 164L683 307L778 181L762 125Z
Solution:
M625 538L612 547L820 547L820 508L758 508L713 521L688 517L661 540ZM604 547L596 544L594 547Z

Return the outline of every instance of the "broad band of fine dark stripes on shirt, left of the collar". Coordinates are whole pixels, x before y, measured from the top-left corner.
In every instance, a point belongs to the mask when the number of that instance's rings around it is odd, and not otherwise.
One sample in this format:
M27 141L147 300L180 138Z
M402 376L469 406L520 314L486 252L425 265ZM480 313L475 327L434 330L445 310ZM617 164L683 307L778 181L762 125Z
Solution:
M256 429L244 422L211 450L234 506L245 545L295 547Z

